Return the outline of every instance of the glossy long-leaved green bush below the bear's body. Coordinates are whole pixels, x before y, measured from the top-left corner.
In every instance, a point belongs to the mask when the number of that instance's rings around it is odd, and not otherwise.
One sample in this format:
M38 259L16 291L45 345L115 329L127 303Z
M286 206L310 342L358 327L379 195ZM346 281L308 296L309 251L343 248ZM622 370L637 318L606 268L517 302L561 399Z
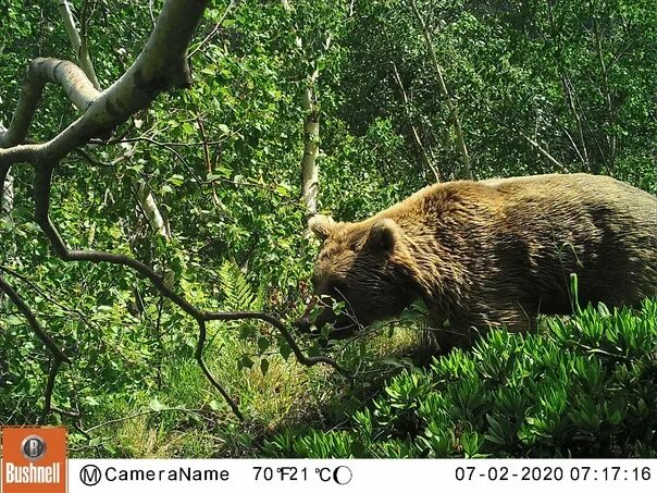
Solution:
M274 457L657 457L657 300L588 307L541 334L394 378L344 430L287 430Z

